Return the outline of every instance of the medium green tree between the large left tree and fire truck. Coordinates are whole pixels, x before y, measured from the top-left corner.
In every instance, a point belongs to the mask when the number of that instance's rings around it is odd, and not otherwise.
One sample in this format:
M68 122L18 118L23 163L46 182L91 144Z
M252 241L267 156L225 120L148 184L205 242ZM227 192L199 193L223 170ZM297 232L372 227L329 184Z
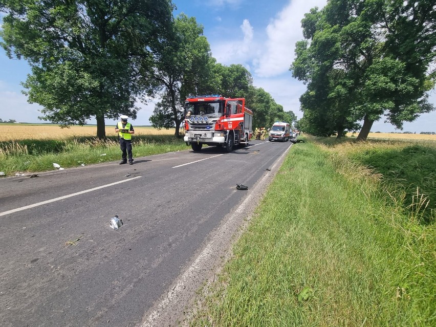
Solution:
M203 35L203 26L195 17L180 14L176 17L168 38L156 43L154 71L148 70L148 61L141 71L145 81L154 79L161 100L155 106L150 121L157 128L179 126L183 120L183 104L189 94L202 92L208 83L214 61L210 46Z

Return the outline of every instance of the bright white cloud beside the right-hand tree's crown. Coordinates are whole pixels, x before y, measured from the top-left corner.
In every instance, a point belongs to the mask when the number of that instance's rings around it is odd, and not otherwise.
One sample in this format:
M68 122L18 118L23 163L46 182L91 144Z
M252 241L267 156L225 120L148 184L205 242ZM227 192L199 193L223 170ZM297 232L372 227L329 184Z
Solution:
M254 60L258 76L274 76L289 70L295 57L295 43L303 38L301 19L311 8L322 8L325 4L325 0L295 0L278 13L266 28L268 39L262 54Z

